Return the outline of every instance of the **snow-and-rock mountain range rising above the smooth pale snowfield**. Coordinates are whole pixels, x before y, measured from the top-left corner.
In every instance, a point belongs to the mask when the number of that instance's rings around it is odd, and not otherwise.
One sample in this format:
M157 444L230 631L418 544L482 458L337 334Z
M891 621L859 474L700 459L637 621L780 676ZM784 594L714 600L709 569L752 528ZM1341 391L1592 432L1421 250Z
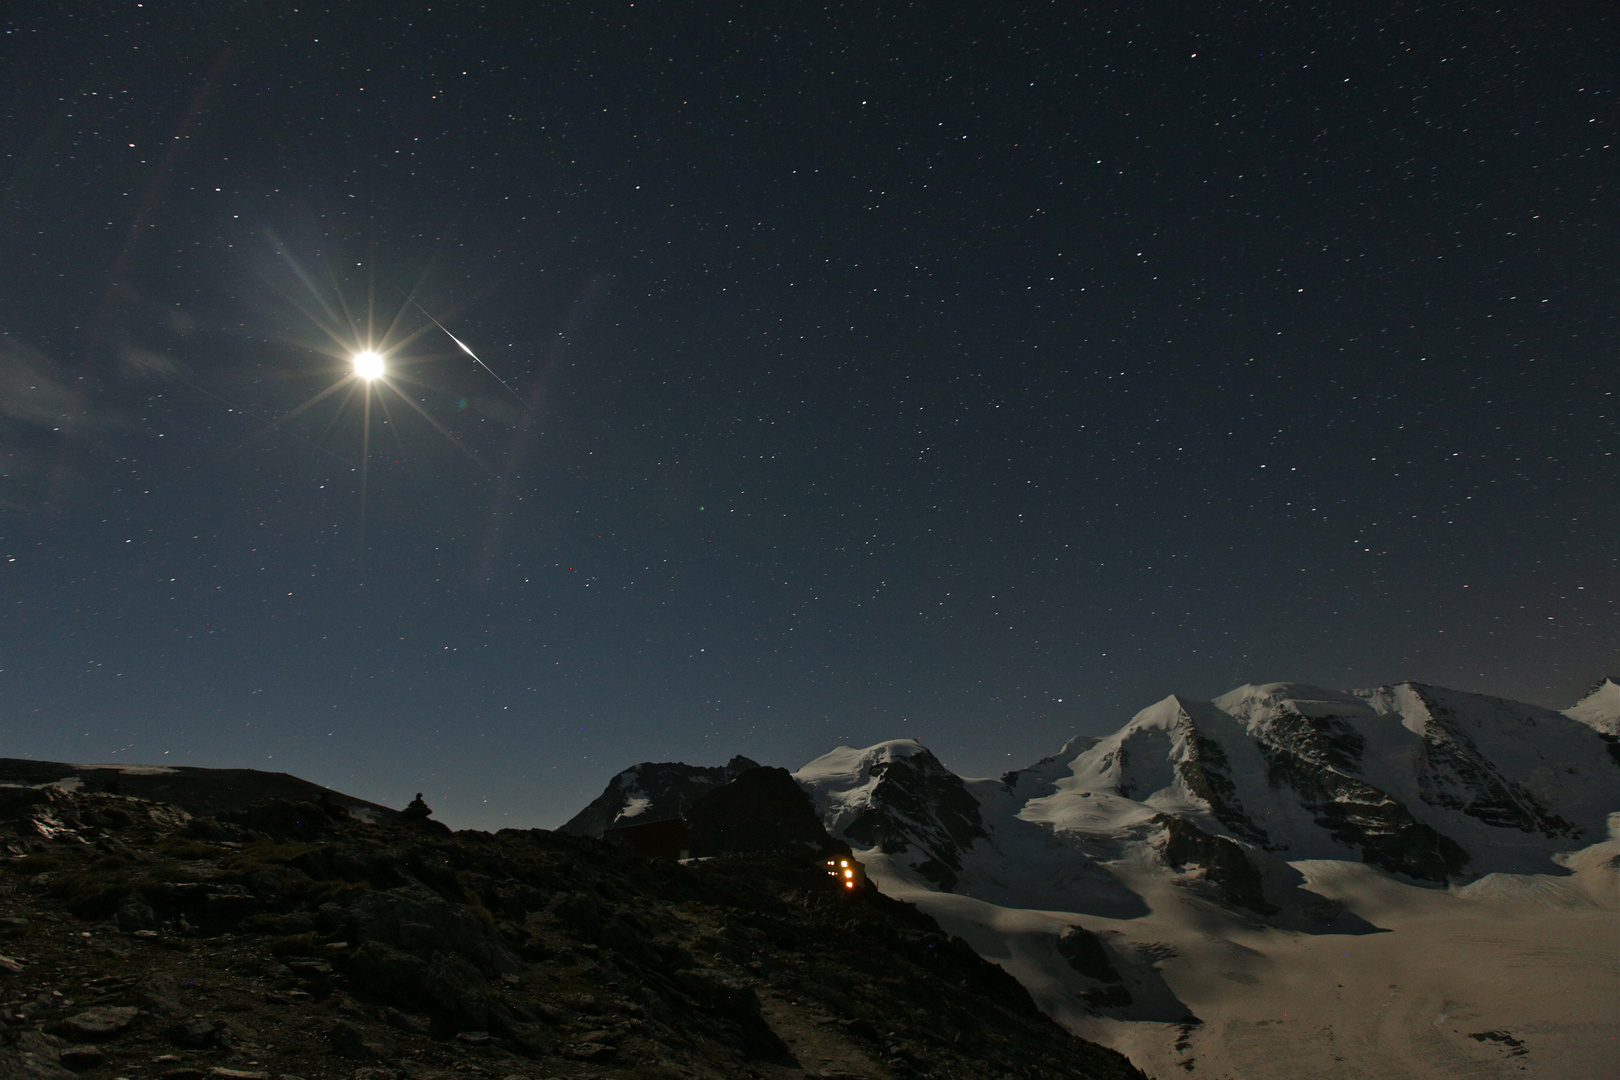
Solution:
M1140 902L1108 868L1136 852L1273 915L1298 881L1288 860L1432 886L1563 873L1552 857L1601 839L1620 806L1609 727L1612 680L1568 712L1426 683L1267 683L1173 695L995 780L957 777L914 740L842 746L794 777L834 837L932 889L1121 916ZM688 769L630 772L671 767ZM612 785L598 803L625 806Z

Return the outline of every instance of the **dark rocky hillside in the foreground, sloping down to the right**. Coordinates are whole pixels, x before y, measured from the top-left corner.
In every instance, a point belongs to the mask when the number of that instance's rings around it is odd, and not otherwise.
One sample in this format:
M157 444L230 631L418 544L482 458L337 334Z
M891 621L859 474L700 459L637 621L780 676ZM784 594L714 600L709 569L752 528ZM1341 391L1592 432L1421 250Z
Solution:
M1140 1077L825 852L0 790L0 1080Z

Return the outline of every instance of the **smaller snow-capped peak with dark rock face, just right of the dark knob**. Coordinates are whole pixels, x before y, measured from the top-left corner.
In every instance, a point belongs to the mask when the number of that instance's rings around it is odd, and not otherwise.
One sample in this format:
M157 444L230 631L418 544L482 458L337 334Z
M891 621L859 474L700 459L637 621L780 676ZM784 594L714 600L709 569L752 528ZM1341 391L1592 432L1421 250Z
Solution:
M978 800L922 743L841 746L794 774L816 800L831 834L906 861L953 889L962 855L988 836Z

